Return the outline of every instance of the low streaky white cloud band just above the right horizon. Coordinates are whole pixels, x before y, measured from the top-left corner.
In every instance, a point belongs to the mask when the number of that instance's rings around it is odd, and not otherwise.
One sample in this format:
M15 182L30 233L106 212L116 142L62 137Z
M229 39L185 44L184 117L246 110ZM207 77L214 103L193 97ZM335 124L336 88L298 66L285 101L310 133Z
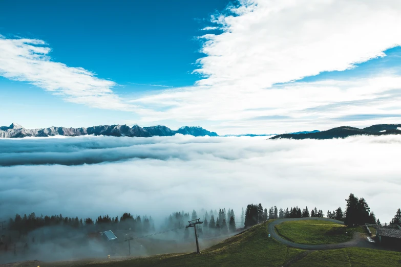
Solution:
M370 78L295 82L268 90L236 91L236 86L198 86L136 99L167 110L143 120L176 119L219 122L219 134L281 133L307 129L398 123L401 77L386 73ZM163 104L161 104L163 103ZM366 116L369 115L369 116ZM359 116L359 117L358 117ZM365 116L365 117L363 117Z

